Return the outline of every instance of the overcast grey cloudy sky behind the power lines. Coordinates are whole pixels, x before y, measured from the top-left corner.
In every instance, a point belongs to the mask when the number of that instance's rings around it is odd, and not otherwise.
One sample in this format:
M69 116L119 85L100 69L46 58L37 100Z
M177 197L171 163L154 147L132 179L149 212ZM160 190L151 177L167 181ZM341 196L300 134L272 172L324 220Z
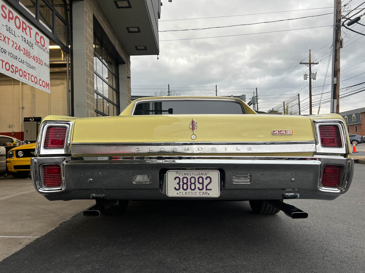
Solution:
M343 1L342 5L348 1L350 0ZM333 13L333 8L210 19L163 20L291 11L333 7L334 4L333 0L173 0L172 3L163 0L162 2L159 31L248 24L321 15ZM361 3L362 0L352 0L349 5L351 8L355 8ZM364 11L360 14L362 13ZM300 98L303 100L308 97L308 86L306 86L308 80L303 79L303 74L308 74L308 68L298 63L302 60L308 62L308 50L311 49L312 62L319 62L318 65L312 67L312 72L317 72L317 80L312 81L314 87L312 91L314 95L320 94L327 70L329 58L326 57L328 56L327 53L330 52L333 28L318 26L332 24L333 14L329 14L276 23L195 31L160 32L160 56L158 60L157 56L131 57L132 85L170 84L173 87L181 87L215 86L217 84L218 88L257 87L259 95L295 94L299 92ZM162 41L308 27L318 28L208 39ZM365 27L362 25L357 24L352 28L365 33ZM347 35L343 31L346 31ZM342 29L344 48L341 50L341 80L365 72L365 39L362 35L356 35L357 33L347 31L345 28ZM289 71L291 72L289 73ZM331 76L331 60L327 73L327 76ZM281 80L285 75L287 76ZM330 80L330 77L327 78L325 84L330 84ZM361 82L365 82L365 74L341 82L340 88ZM359 88L361 87L365 88L365 84L359 86ZM359 88L342 89L340 94ZM323 92L328 91L330 91L330 86L324 86ZM320 95L316 95L313 100L317 101L319 97ZM329 93L325 93L322 100L326 101L328 97ZM307 108L306 104L308 104L308 100L301 102L301 108ZM365 91L340 100L340 111L360 107L365 107ZM315 106L313 112L317 112L317 110L318 106ZM308 114L308 111L302 111L302 114ZM330 104L322 104L320 112L329 111Z

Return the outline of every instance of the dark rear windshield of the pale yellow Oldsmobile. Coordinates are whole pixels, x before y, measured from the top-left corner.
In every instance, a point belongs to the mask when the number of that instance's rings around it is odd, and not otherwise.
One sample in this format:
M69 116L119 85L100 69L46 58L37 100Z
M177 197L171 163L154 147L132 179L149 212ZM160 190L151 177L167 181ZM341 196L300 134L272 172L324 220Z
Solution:
M153 100L139 102L133 115L245 114L234 100Z

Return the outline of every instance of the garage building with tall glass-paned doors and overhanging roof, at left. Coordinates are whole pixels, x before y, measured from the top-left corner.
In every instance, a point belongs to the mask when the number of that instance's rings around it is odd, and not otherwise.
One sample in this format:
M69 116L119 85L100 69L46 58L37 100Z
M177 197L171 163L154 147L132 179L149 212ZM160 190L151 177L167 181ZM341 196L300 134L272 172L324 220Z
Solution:
M131 101L130 56L160 51L161 0L0 0L0 5L2 23L15 21L12 31L23 31L24 22L49 39L50 74L45 92L0 66L0 135L35 141L47 115L119 115ZM0 35L12 33L2 28Z

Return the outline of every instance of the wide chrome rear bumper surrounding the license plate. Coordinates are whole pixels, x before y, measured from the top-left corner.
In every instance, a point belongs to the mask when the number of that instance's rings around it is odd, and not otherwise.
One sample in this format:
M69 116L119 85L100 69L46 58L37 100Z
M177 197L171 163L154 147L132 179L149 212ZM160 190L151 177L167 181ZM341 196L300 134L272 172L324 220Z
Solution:
M61 165L61 187L46 189L42 186L40 170L42 165L47 164ZM320 178L326 164L344 167L339 189L320 188ZM90 199L92 194L103 194L106 199L171 199L166 195L165 185L165 174L169 169L218 169L221 173L221 193L215 198L218 200L331 200L349 189L353 176L353 159L339 156L31 159L31 175L35 189L49 200ZM151 183L132 182L133 174L146 173L151 174ZM234 183L234 174L250 174L250 182Z

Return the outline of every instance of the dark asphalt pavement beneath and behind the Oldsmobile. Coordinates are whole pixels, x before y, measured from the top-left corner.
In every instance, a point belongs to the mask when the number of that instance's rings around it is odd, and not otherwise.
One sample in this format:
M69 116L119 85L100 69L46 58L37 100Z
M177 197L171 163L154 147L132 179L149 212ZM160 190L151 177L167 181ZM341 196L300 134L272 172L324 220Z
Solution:
M0 262L1 272L363 273L364 177L355 164L334 201L288 202L307 219L254 215L248 202L131 201L122 216L76 214Z

